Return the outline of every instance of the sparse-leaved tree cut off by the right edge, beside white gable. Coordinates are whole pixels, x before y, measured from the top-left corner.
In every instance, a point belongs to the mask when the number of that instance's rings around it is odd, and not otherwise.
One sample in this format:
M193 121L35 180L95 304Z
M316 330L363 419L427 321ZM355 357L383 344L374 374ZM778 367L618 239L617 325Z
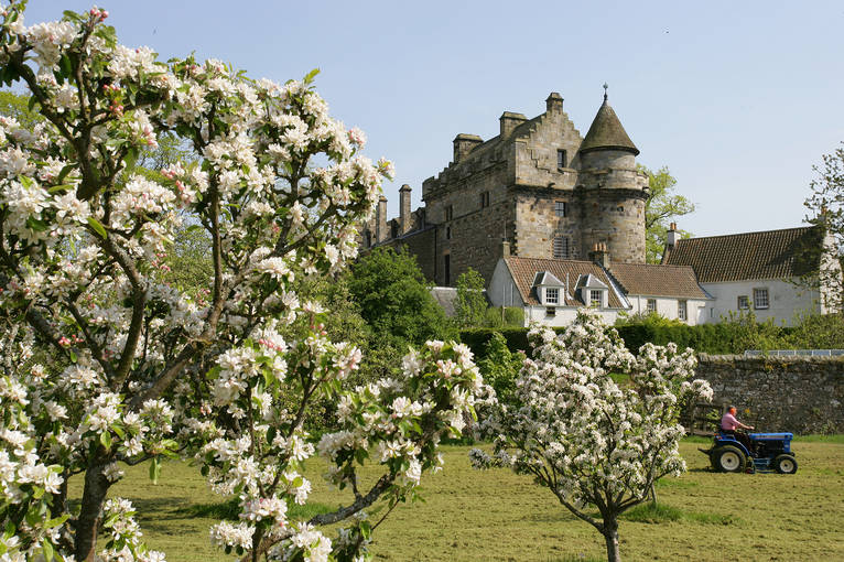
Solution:
M831 237L831 245L804 249L821 267L818 275L803 281L825 288L821 299L826 311L844 313L844 142L821 158L821 164L812 166L815 177L809 184L811 194L803 205L809 209L807 220L820 226Z

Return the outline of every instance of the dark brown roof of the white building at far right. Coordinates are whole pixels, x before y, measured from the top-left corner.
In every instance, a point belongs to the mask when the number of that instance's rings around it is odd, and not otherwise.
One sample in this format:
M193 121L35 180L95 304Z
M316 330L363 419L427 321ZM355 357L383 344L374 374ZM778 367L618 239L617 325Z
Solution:
M822 244L818 227L710 236L678 240L662 263L691 266L701 283L785 279L818 270Z

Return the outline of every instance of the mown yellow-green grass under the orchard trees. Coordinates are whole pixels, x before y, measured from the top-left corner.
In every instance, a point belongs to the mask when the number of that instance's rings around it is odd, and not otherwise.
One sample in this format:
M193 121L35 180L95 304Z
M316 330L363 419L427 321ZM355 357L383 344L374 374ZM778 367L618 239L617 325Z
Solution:
M793 476L716 474L699 446L701 440L681 442L689 472L658 482L656 508L645 505L621 516L625 560L844 560L844 436L797 437L800 468ZM424 501L399 506L376 531L374 560L605 560L602 536L555 504L550 491L509 471L473 469L469 448L444 447L445 468L423 482ZM231 560L210 545L208 527L219 517L236 517L237 509L210 493L198 469L166 463L166 484L159 485L145 466L126 471L111 495L142 508L150 548L163 550L171 562ZM296 515L318 514L345 499L313 476L314 493ZM78 498L78 477L72 489Z

